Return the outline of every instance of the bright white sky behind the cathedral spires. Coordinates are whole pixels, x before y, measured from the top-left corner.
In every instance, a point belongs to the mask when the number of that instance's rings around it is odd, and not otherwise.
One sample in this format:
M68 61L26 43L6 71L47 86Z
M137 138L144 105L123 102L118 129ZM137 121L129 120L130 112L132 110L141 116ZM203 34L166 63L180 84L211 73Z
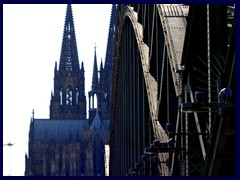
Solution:
M72 5L86 96L91 87L95 43L98 66L101 58L105 60L111 7ZM3 146L4 176L24 175L32 109L35 118L49 118L66 8L66 4L3 5L3 143L15 143L11 148Z

